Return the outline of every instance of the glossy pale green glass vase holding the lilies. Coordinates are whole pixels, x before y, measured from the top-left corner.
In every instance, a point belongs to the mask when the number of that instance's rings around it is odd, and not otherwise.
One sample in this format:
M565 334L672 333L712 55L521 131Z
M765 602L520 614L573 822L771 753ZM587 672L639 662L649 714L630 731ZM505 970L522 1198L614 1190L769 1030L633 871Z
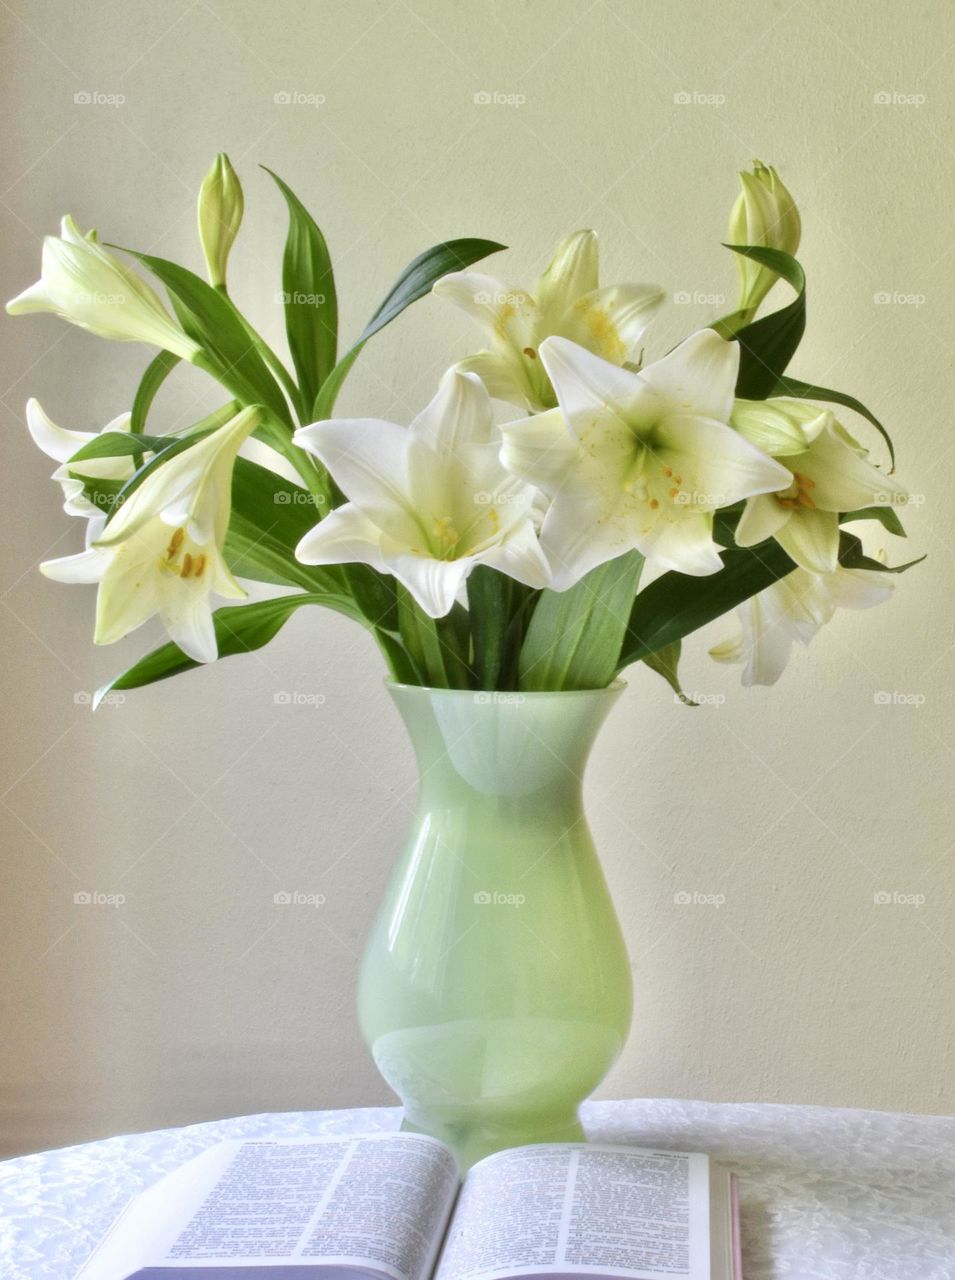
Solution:
M630 1029L630 964L581 796L622 687L389 686L420 788L358 1016L405 1128L447 1142L465 1167L580 1140L577 1107Z

